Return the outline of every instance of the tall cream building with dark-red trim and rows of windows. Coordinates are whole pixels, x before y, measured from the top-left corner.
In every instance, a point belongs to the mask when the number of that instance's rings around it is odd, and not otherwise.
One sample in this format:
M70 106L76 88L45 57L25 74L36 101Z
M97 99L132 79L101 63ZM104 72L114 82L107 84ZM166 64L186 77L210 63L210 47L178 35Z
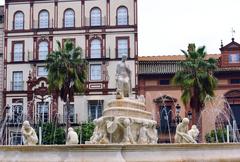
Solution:
M66 122L65 103L47 90L46 56L67 39L89 63L84 94L71 102L70 121L101 116L115 96L116 64L127 55L137 85L137 0L5 0L4 105L9 105L6 143L18 144L14 124ZM136 91L135 91L136 92ZM16 138L15 138L16 137Z

